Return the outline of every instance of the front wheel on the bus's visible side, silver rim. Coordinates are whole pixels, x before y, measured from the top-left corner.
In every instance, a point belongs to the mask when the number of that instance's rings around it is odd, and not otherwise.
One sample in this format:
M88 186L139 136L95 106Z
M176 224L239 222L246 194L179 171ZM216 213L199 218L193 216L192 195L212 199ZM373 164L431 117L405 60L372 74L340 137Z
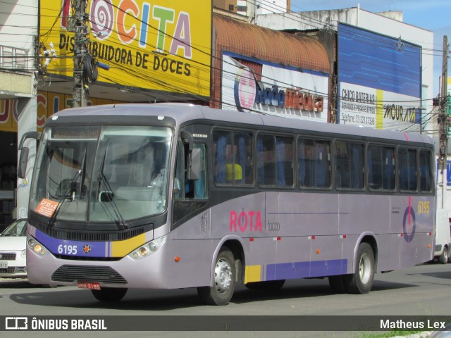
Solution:
M197 293L209 305L227 305L235 291L235 280L235 258L230 249L223 246L214 265L214 285L198 287Z

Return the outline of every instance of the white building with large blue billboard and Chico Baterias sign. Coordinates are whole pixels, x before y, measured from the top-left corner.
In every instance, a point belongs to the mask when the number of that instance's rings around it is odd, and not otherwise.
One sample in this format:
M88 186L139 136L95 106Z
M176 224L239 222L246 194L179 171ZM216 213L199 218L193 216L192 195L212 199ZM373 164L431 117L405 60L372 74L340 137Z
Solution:
M369 94L371 97L374 95L373 101L375 104L368 105L363 102L363 106L357 107L355 106L356 102L350 102L350 104L347 105L348 108L352 107L352 104L354 104L354 108L363 110L374 108L374 110L376 110L381 109L381 107L376 107L377 101L397 102L395 108L391 109L389 112L390 114L393 114L394 120L392 119L393 123L385 123L387 128L392 127L395 129L397 128L398 130L407 128L406 131L421 131L426 133L432 131L430 117L433 98L433 56L428 50L433 46L433 32L403 23L402 13L400 12L371 13L359 7L330 11L257 15L256 23L257 25L271 27L275 30L289 32L322 30L337 35L337 44L335 48L338 49L338 52L336 55L337 68L335 73L338 76L338 79L337 83L334 84L336 88L336 94L334 95L338 98L338 123L350 123L350 118L353 118L354 121L356 121L355 115L358 115L357 113L354 113L353 117L352 114L350 115L350 111L346 111L346 109L343 109L342 112L340 111L342 108L340 106L340 98L343 97L343 92L339 92L339 89L341 88L347 90L348 93L363 92L364 95ZM340 62L342 61L340 61L340 58L344 58L347 51L343 51L340 55L340 42L341 46L343 46L343 44L348 41L348 38L352 37L357 37L357 39L354 39L354 42L359 42L358 40L360 40L360 49L364 52L367 52L366 47L371 47L373 50L379 48L378 56L380 57L380 60L378 63L371 65L371 67L379 69L385 68L388 73L392 74L400 72L400 67L412 67L407 68L405 72L409 74L412 72L415 73L411 79L412 82L409 83L409 85L414 85L416 87L414 94L406 94L404 92L398 92L397 90L392 90L390 92L387 90L385 92L386 99L381 98L377 100L376 91L383 90L378 84L374 84L372 88L369 85L365 85L363 88L342 88L341 85L346 82L340 82L340 80L342 80L340 77L343 77L345 72L344 68L340 68ZM362 40L366 40L366 46L364 46ZM385 50L385 47L389 45L391 50L384 54L382 50ZM348 44L348 46L350 46L350 44ZM395 56L395 54L397 55ZM354 54L354 56L355 55L356 54ZM395 58L393 59L394 56ZM411 56L416 58L414 63L410 61ZM367 61L369 60L369 57L369 55L366 55ZM393 65L388 65L388 63L391 63L393 60L395 60L395 63L393 63ZM341 63L341 65L342 64L343 63ZM364 74L366 77L373 75L374 74ZM397 80L393 81L396 82ZM352 85L357 84L353 83ZM401 84L396 82L393 84L393 87L396 87L397 85ZM373 89L373 91L366 90L369 88ZM359 89L364 90L362 91ZM404 107L401 102L405 103L406 101L411 102L411 105L406 106L404 104ZM357 102L357 104L361 103ZM402 106L402 108L400 108L400 106ZM388 110L388 107L385 108L386 109L380 113L383 114L383 116L387 116L385 111ZM401 118L400 115L402 115ZM362 116L364 121L368 121L366 115L359 116ZM413 119L413 122L410 122L410 126L403 124L406 122L406 118L408 121ZM400 123L399 125L398 122ZM361 122L358 120L356 123L360 124ZM373 127L383 126L383 124L376 124L376 118L371 125Z

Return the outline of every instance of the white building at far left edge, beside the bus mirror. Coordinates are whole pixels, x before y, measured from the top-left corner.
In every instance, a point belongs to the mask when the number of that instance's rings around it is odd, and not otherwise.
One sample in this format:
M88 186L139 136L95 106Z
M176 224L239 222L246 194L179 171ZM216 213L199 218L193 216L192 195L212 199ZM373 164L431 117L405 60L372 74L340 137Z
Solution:
M0 227L27 216L29 184L18 182L18 140L36 130L35 46L37 1L17 0L1 4L0 13ZM35 145L30 144L30 154ZM29 168L27 177L30 177Z

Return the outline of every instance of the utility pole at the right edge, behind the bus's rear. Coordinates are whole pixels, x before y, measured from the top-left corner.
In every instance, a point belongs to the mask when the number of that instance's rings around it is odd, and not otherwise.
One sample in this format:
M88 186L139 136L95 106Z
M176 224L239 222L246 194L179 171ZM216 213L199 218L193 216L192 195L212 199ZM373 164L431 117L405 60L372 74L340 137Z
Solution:
M448 144L448 120L447 120L447 77L448 77L448 38L443 36L443 64L442 64L442 90L440 93L440 112L438 123L440 125L440 171L442 172L442 208L445 208L446 192L446 163Z

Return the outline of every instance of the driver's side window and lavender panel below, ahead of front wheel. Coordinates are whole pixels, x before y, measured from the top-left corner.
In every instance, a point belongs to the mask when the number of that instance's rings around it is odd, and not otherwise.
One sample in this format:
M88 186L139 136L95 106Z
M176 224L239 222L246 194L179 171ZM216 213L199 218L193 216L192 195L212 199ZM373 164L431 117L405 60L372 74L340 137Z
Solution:
M209 284L211 268L211 219L207 208L208 189L206 186L206 146L191 144L192 149L178 142L175 178L173 186L173 206L171 224L172 259L169 287L196 287ZM190 177L191 154L200 156L199 177ZM194 163L193 163L194 164ZM195 179L194 179L195 178Z

